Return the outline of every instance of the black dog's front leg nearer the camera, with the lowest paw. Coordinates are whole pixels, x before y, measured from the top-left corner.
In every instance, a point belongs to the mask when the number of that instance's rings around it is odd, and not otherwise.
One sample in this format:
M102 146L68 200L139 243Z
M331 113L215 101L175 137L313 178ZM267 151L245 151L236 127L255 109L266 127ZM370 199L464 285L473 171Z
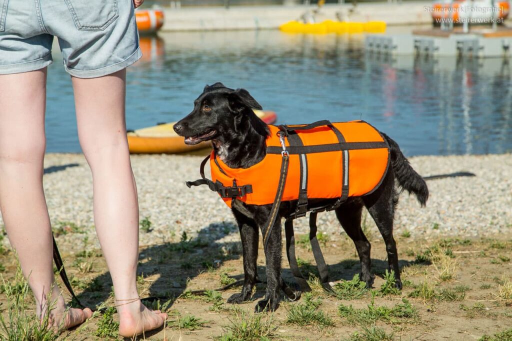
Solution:
M262 227L262 229L265 227ZM265 231L262 231L265 233ZM268 246L265 250L267 293L265 299L258 302L254 307L255 312L266 310L274 311L279 307L281 290L281 219L275 220L270 232Z

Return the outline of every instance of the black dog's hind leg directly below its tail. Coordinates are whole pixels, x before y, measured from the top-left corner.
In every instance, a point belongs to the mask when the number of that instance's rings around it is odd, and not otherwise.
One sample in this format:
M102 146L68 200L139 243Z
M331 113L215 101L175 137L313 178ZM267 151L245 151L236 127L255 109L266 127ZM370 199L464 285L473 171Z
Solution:
M402 288L400 280L400 268L398 267L398 252L393 238L393 216L396 205L396 193L393 169L388 169L388 174L380 186L372 194L362 197L370 215L384 239L388 253L388 269L395 272L396 287Z

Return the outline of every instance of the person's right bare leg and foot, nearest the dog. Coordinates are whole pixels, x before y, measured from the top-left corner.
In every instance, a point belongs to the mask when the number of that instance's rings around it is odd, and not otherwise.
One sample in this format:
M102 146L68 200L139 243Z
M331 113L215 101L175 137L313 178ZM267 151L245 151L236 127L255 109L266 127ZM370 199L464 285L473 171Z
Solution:
M125 70L93 79L72 77L78 137L93 173L96 232L116 300L138 297L139 209L126 140L125 78ZM119 333L128 337L158 328L167 318L140 301L119 306L117 311Z

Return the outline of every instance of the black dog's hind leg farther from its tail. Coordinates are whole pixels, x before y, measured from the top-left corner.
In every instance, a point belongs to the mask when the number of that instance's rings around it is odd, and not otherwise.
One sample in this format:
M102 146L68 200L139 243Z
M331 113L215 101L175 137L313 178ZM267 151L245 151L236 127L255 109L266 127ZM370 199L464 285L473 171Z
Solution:
M336 208L336 217L347 235L352 239L361 262L361 273L359 280L366 283L367 288L371 288L375 276L370 272L371 245L361 229L361 211L363 203L360 199L350 200Z

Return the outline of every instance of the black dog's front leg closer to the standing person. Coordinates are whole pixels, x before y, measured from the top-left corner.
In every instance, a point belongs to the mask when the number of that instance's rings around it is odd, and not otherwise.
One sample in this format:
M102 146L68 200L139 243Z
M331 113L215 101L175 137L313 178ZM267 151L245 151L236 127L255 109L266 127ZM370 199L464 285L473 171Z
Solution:
M246 217L233 209L234 217L238 222L240 237L242 240L242 255L244 262L244 285L242 292L231 295L228 303L240 304L248 301L252 296L252 289L257 281L258 271L256 261L258 259L258 225L253 219Z

